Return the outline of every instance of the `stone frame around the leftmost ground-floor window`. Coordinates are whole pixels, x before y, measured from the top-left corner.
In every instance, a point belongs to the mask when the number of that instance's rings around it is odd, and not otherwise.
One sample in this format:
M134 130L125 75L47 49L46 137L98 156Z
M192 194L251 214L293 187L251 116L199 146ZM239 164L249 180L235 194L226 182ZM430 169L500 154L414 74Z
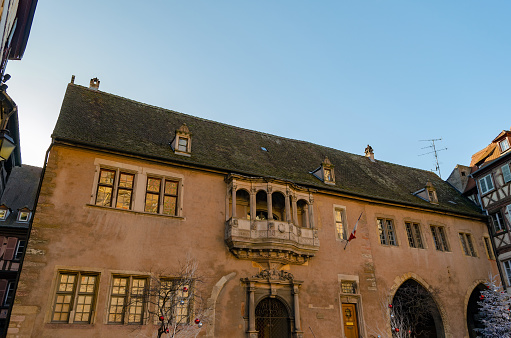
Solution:
M71 292L71 294L72 294L71 304L72 305L71 305L71 309L68 313L67 321L54 321L53 316L55 313L55 311L54 311L55 310L55 302L57 301L57 295L59 294L58 288L60 285L60 276L63 274L75 275L76 276L76 285L73 286L73 291ZM77 286L78 286L78 282L79 282L79 279L81 276L95 276L96 277L95 287L94 287L94 291L93 291L93 300L92 300L92 304L91 304L91 310L89 313L89 321L88 322L84 322L84 321L75 322L75 320L74 320L75 319L75 310L76 310L76 305L77 305L76 300L78 298L78 287ZM69 268L65 268L65 267L56 267L55 275L54 275L54 278L52 279L52 287L51 287L52 292L50 292L48 294L50 306L48 307L48 311L46 312L44 322L52 323L52 324L59 324L59 325L61 325L61 324L62 325L63 324L80 324L80 325L94 324L94 322L96 320L96 313L97 313L96 307L97 307L97 302L98 302L100 280L101 280L101 272L97 269L83 269L82 270L82 269L75 269L75 268L69 269Z

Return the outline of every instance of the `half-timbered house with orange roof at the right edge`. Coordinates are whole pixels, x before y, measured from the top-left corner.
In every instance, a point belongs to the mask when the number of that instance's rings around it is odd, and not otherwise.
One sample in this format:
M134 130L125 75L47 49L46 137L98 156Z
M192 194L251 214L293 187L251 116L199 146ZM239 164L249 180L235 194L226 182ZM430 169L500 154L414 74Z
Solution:
M491 237L504 285L511 287L511 131L472 156L471 191L491 218Z

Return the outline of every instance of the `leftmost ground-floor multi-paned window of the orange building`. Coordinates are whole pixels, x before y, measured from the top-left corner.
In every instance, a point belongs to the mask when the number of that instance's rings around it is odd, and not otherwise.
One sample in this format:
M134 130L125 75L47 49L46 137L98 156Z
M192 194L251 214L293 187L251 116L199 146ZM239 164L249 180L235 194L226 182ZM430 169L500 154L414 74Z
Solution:
M98 275L82 272L61 272L53 305L52 322L90 323L96 298Z

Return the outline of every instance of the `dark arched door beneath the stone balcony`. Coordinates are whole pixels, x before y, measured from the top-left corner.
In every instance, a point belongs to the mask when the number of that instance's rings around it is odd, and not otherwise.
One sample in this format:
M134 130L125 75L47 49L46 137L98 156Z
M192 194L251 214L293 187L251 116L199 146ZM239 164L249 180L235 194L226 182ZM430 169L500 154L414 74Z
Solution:
M257 304L256 330L258 338L290 338L291 321L289 311L277 298L264 298Z

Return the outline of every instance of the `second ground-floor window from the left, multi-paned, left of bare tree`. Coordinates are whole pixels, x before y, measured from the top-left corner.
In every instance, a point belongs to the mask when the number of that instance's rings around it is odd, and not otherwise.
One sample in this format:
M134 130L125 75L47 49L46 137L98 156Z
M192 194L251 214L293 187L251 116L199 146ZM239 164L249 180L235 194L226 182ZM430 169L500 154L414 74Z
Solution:
M146 295L146 277L114 276L108 322L112 324L142 324Z

